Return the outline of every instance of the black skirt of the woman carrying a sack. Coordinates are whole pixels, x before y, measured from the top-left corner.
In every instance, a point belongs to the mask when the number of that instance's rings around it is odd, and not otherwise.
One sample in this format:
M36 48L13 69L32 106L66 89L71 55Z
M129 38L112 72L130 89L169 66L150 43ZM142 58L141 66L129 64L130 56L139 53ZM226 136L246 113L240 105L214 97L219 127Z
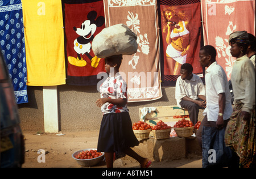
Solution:
M104 114L98 137L98 152L122 154L127 148L138 146L129 113Z

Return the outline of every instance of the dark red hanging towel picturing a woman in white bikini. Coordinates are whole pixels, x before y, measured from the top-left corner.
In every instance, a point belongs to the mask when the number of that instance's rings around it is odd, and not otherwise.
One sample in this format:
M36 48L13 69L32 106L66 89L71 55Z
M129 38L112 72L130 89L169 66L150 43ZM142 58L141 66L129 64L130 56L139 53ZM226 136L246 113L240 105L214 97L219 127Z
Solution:
M202 26L200 0L160 0L159 3L163 46L162 84L172 86L180 75L183 63L190 63L194 74L203 73L198 60Z

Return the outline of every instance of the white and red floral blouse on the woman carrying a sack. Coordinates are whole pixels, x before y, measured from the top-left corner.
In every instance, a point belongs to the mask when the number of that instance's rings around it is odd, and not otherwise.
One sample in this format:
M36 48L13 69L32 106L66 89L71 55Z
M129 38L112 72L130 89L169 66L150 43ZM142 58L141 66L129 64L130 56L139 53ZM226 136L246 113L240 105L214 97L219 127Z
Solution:
M115 77L109 77L100 86L101 98L109 97L111 99L127 99L127 85L120 74ZM129 112L127 103L125 106L117 106L111 103L105 103L101 106L103 114Z

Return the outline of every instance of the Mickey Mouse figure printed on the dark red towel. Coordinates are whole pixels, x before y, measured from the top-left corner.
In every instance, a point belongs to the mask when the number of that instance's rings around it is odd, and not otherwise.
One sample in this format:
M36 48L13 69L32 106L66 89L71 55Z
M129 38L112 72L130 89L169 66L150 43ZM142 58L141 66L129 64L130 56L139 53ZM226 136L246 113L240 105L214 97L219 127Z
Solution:
M97 18L96 11L90 11L87 15L87 20L85 20L80 28L73 27L74 31L79 35L77 39L74 41L74 50L77 53L77 57L68 57L68 62L71 65L83 67L86 66L87 62L85 59L81 57L81 55L86 55L90 59L90 64L92 67L96 68L98 66L98 62L100 62L101 58L97 56L92 57L89 53L92 49L91 42L94 39L94 33L97 27L101 27L105 23L104 16L99 16ZM80 55L81 54L81 55Z

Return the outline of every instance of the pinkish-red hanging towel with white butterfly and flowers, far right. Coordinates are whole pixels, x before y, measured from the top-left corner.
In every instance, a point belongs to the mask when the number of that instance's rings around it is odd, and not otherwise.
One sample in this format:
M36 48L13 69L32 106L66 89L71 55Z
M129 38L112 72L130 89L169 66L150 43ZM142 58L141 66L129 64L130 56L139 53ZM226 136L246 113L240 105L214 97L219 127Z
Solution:
M255 0L201 0L201 7L204 45L216 48L216 61L229 80L236 61L230 54L229 35L234 31L247 31L255 36Z

